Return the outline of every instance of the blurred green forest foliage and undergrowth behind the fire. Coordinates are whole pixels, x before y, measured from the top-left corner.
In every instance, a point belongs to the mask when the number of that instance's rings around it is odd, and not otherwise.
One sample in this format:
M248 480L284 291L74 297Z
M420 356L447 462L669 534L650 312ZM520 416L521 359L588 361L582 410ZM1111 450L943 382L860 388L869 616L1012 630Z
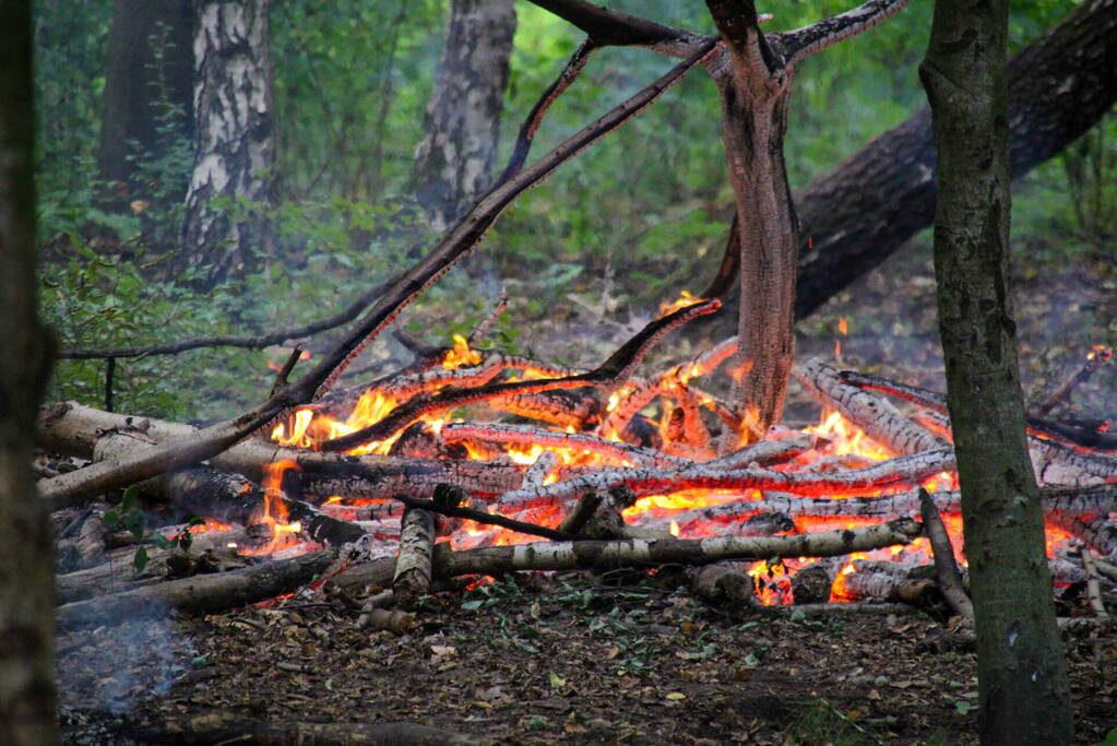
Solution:
M767 9L775 12L767 23L796 28L851 4L780 3ZM916 67L927 44L929 4L914 3L803 65L786 142L793 189L924 105ZM1013 48L1073 4L1013 3ZM714 32L704 3L610 6ZM428 126L424 111L446 40L448 2L275 4L275 193L265 204L223 205L262 213L268 240L250 271L204 289L197 267L183 270L174 260L192 165L192 142L179 124L183 113L170 95L153 102L159 152L132 143L126 155L144 189L127 195L125 209L111 204L98 142L113 2L38 0L35 7L39 229L47 247L42 302L64 348L295 328L333 315L429 246L432 232L414 209L414 151ZM497 173L527 111L581 40L535 6L522 3L516 11ZM603 50L548 114L534 152L545 152L667 67L646 50ZM685 78L522 199L466 268L403 316L404 328L442 344L451 333L472 328L503 287L509 308L491 344L514 352L545 345L541 357L585 363L600 354L584 338L586 329L594 329L600 350L609 350L610 329L623 338L680 289L700 291L720 260L732 218L717 106L708 76ZM1115 140L1117 122L1109 115L1016 182L1013 237L1022 277L1071 265L1088 266L1102 279L1109 271L1117 232ZM906 251L929 257L929 240L920 237ZM897 333L897 319L884 314L858 324L862 333ZM836 314L825 309L800 324L808 335L829 336L836 327ZM1117 325L1096 325L1089 342L1114 344ZM122 360L114 404L180 421L228 414L259 399L273 375L266 363L284 356L210 348ZM47 400L104 403L105 366L61 361ZM216 395L198 399L198 391Z

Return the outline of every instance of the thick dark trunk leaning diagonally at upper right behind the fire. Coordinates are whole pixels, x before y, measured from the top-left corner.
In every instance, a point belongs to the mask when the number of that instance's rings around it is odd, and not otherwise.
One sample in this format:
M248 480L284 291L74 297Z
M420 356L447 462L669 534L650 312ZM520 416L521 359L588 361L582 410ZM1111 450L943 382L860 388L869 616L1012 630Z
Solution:
M1117 0L1087 0L1009 64L1012 178L1059 153L1117 101ZM795 316L903 247L935 216L930 114L920 111L831 173L796 204L804 240Z

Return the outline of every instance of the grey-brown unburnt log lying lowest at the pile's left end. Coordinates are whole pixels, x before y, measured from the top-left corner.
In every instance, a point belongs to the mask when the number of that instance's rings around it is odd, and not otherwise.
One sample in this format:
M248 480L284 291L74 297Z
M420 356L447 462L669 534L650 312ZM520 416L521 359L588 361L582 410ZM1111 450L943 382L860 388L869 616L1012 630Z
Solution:
M75 601L58 608L59 629L113 624L124 620L159 618L169 611L214 613L233 606L290 593L309 583L337 560L325 549L289 560L277 560L217 575L178 581Z

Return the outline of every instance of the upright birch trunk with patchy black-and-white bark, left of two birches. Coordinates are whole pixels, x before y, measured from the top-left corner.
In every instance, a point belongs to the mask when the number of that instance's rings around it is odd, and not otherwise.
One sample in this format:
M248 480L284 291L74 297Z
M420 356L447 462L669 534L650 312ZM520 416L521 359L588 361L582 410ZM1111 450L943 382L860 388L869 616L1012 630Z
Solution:
M182 222L184 262L210 284L250 268L270 197L270 0L208 0L194 36L194 168ZM223 204L214 204L220 200Z

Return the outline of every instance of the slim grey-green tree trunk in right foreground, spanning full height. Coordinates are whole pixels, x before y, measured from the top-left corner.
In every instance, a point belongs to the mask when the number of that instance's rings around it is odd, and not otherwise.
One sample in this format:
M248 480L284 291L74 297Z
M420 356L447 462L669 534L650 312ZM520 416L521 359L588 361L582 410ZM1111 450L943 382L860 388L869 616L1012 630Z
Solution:
M1009 287L1009 0L937 0L919 75L938 150L935 274L985 744L1069 744L1070 690L1024 438Z

